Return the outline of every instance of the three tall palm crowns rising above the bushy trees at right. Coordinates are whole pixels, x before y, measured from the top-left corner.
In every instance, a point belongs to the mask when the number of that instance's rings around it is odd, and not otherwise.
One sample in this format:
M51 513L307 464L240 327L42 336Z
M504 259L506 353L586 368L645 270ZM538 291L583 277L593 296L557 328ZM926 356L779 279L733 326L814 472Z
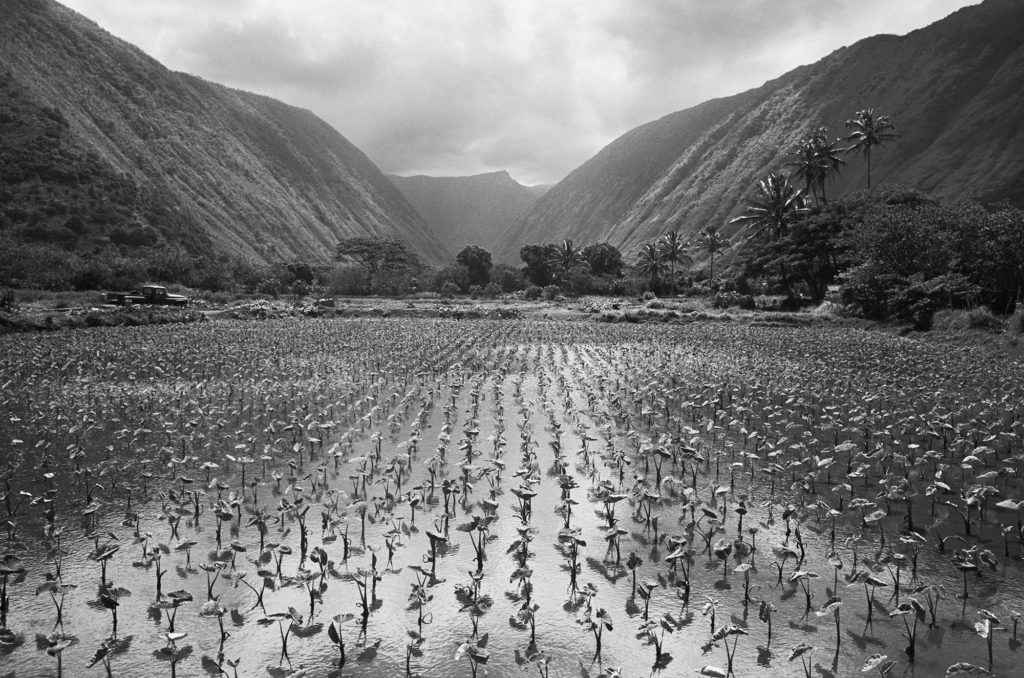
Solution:
M825 186L846 164L842 156L860 153L867 162L867 187L871 187L871 151L895 140L899 135L889 116L877 116L873 109L858 111L846 121L850 133L845 137L829 139L824 127L802 138L791 151L794 158L786 163L792 173L771 172L761 179L750 199L746 209L730 223L739 223L751 231L750 238L767 234L776 240L786 234L790 224L808 211L807 195L820 206L825 202ZM842 146L844 142L850 143ZM792 179L802 180L803 188Z

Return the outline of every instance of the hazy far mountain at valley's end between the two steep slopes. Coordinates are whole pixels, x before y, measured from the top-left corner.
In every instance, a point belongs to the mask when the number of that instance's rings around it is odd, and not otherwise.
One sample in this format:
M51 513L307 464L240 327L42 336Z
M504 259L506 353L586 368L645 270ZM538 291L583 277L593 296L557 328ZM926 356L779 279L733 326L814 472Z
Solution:
M493 250L549 186L524 186L508 172L475 176L389 176L452 252ZM518 262L518 255L513 258Z

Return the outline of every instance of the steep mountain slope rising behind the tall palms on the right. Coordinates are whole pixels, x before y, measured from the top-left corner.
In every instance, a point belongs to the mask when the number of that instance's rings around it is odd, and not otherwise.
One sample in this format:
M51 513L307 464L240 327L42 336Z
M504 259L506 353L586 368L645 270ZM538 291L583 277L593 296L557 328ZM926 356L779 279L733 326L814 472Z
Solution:
M902 135L877 151L874 185L1024 203L1024 2L987 0L902 37L877 36L741 94L714 99L615 139L538 201L503 240L572 238L627 251L672 228L724 226L758 179L804 135L861 109ZM847 156L831 197L865 186Z

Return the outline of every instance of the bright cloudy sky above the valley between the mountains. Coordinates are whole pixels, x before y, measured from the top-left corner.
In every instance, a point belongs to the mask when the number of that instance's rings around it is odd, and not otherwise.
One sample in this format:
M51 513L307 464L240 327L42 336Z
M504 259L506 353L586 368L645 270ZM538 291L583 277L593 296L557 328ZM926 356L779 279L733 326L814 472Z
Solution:
M637 125L977 0L61 0L385 172L552 183Z

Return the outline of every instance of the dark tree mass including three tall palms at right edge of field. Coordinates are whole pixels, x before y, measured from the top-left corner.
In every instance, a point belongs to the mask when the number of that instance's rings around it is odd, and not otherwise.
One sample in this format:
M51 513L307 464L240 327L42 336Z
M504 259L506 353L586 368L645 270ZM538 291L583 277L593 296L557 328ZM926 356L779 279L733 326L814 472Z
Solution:
M872 150L895 140L895 127L871 110L846 127L845 138L829 140L820 128L800 140L786 164L793 172L757 183L733 220L741 230L730 286L811 303L837 286L837 300L853 312L919 327L940 308L1013 312L1024 286L1024 212L901 187L872 190ZM867 164L867 190L827 200L843 156L854 153Z

